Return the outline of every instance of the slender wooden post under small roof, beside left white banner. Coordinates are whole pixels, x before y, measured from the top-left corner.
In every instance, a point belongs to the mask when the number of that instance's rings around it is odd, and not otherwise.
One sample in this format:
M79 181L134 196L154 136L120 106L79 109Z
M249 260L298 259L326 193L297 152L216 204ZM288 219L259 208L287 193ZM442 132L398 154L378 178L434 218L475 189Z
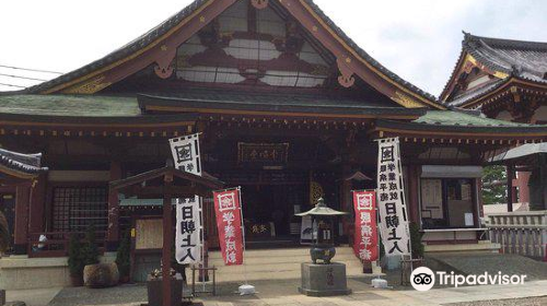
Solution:
M162 289L163 306L172 306L171 303L171 249L173 246L173 221L172 221L172 195L173 176L165 175L163 186L163 254L162 254ZM178 303L178 302L177 302ZM174 305L174 304L173 304Z

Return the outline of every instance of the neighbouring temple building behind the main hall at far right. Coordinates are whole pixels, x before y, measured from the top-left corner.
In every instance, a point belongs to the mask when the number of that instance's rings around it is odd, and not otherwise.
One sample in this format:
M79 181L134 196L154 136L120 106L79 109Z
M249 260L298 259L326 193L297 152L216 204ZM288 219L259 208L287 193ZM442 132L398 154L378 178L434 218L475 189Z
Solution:
M459 58L440 98L446 107L477 109L488 118L547 123L547 43L464 33ZM539 169L508 168L511 202L534 207L534 195L542 192Z

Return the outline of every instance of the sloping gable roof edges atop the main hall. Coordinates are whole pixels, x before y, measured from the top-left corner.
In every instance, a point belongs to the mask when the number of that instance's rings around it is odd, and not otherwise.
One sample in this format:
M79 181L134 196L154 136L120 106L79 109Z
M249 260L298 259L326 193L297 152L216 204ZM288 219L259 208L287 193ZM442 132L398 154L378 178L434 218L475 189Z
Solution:
M116 68L117 66L127 64L128 61L133 60L138 57L149 57L147 60L150 60L150 54L147 52L150 52L151 50L153 51L160 46L164 47L164 45L162 44L165 44L165 42L170 38L170 35L175 35L174 33L176 33L183 26L189 24L194 20L198 20L198 22L206 24L207 19L205 17L205 15L207 12L210 13L211 11L214 11L218 15L221 12L220 10L225 9L234 1L235 0L196 0L188 7L183 9L181 12L164 21L144 35L105 56L104 58L98 59L72 72L60 75L48 82L44 82L39 85L30 87L26 92L59 93L74 84L83 83L85 85L85 82L89 82L90 86L96 86L100 89L106 87L112 84L112 82L108 81L108 75L105 79L104 73ZM317 33L324 31L325 33L328 33L328 35L334 38L334 42L347 48L345 50L345 54L347 54L345 56L346 63L349 66L351 60L350 55L354 55L358 59L357 61L360 64L364 64L363 69L366 71L366 73L373 74L376 86L379 86L379 82L387 82L388 86L392 86L391 92L387 95L391 98L397 101L399 104L412 105L411 107L416 107L417 104L421 104L421 106L427 105L439 109L444 108L444 106L437 103L437 98L433 95L403 80L400 76L393 73L380 62L374 60L371 56L369 56L338 26L336 26L336 24L330 19L328 19L312 0L284 0L282 2L276 1L276 3L286 5L286 8L291 7L292 9L294 9L294 7L296 5L300 7L296 9L298 12L291 12L296 19L302 19L302 14L304 14L302 12L311 14L313 15L313 17L317 19L318 24L314 25L313 30L309 28L309 31ZM211 9L214 8L214 5L218 5L219 8ZM318 25L324 26L324 28L322 27L321 30L318 30ZM307 26L310 26L310 24ZM354 63L351 62L351 64ZM359 72L353 72L359 75ZM119 79L119 75L116 75L116 78Z

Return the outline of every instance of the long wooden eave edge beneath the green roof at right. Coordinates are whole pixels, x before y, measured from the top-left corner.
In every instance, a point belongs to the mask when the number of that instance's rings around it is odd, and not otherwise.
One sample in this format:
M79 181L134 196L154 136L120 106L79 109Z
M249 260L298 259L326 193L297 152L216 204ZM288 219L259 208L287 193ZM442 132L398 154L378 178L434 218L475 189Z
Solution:
M500 127L500 126L449 126L417 122L399 122L377 120L371 132L394 133L400 136L422 136L426 138L486 138L511 140L545 140L547 126L537 127Z

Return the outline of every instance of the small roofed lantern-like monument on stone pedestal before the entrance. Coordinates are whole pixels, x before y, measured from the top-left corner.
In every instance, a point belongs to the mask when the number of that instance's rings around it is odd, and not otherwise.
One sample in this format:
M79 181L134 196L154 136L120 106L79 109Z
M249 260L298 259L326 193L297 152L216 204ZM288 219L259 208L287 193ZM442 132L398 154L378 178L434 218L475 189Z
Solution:
M344 215L345 212L336 211L325 204L321 198L315 208L307 212L299 213L298 216L312 216L312 248L310 255L312 262L303 262L302 285L299 292L310 296L348 295L346 279L346 264L331 262L336 255L334 239L334 219Z

